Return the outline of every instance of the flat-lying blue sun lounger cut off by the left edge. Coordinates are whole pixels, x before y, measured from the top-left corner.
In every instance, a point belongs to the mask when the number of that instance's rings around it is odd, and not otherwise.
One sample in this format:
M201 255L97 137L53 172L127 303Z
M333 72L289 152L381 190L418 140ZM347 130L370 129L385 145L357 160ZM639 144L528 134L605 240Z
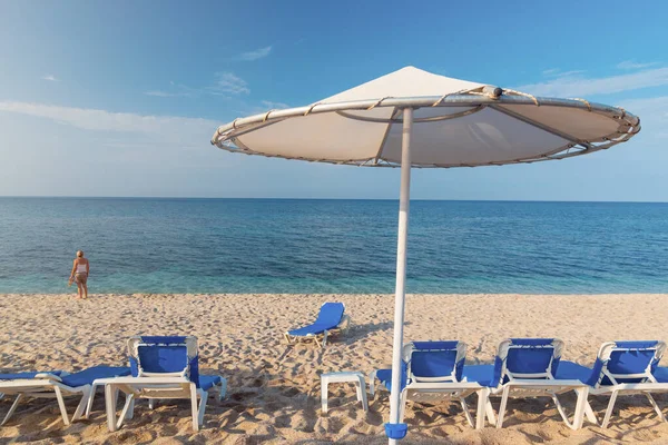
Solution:
M88 369L68 374L63 372L0 374L0 393L16 395L13 404L2 421L4 425L13 415L19 402L26 397L56 398L65 425L84 416L88 399L92 394L92 382L98 378L109 378L129 375L130 368L115 366L94 366ZM71 421L65 407L63 396L81 394Z

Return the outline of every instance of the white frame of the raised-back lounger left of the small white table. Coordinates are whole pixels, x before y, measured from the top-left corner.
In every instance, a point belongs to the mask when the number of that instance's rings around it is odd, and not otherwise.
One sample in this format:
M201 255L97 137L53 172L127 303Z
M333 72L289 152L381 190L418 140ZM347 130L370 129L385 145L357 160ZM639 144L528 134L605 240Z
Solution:
M130 354L137 356L137 348L141 345L140 336L130 337L128 340ZM193 336L186 337L186 347L188 356L197 354L197 338ZM208 392L197 388L197 385L188 378L188 367L178 373L147 373L139 366L139 375L137 377L115 377L95 380L94 386L105 385L109 431L114 432L120 428L126 419L132 418L135 400L139 398L148 399L149 408L153 408L155 400L158 399L190 399L193 429L196 432L199 431L199 427L204 424ZM118 421L116 421L116 400L119 390L125 393L126 403ZM218 393L218 400L222 400L227 392L227 380L220 377L220 384L214 385L210 390L216 390ZM199 402L197 400L198 397Z

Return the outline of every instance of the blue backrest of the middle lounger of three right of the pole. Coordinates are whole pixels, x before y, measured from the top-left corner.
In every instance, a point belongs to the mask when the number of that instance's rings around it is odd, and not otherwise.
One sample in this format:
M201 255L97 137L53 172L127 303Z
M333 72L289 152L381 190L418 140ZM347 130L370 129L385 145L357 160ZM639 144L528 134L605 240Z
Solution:
M512 379L552 379L563 342L558 338L509 338L501 342L494 360L492 386Z

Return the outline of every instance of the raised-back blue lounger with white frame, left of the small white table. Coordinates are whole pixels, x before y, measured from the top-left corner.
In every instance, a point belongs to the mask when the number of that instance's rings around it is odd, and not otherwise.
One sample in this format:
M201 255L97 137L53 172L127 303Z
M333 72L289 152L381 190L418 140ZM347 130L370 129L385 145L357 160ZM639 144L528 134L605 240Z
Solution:
M157 399L189 399L193 429L204 424L209 392L225 397L227 380L220 376L199 374L197 338L193 336L135 336L128 340L131 376L98 380L105 385L109 431L120 428L132 418L135 400L146 398L153 408ZM116 395L126 394L126 403L116 421ZM197 398L199 397L199 404Z

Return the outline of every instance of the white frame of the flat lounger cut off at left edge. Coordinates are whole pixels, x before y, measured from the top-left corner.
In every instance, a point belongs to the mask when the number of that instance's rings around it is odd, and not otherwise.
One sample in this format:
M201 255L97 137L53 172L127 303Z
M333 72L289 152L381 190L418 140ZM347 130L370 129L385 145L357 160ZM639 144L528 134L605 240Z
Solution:
M61 374L61 376L66 376L67 374ZM49 374L49 373L40 373L37 374L33 378L19 378L14 380L2 380L0 382L0 393L3 395L16 395L13 404L4 415L2 423L0 425L4 425L11 416L14 414L19 403L27 397L32 398L56 398L58 400L58 407L60 408L60 415L62 416L62 423L65 425L70 425L71 422L78 421L84 417L86 412L86 406L88 404L88 399L91 394L90 385L82 386L67 386L62 384L62 380L59 376ZM72 418L70 419L67 414L67 408L65 407L63 397L81 395L81 400L75 411Z

